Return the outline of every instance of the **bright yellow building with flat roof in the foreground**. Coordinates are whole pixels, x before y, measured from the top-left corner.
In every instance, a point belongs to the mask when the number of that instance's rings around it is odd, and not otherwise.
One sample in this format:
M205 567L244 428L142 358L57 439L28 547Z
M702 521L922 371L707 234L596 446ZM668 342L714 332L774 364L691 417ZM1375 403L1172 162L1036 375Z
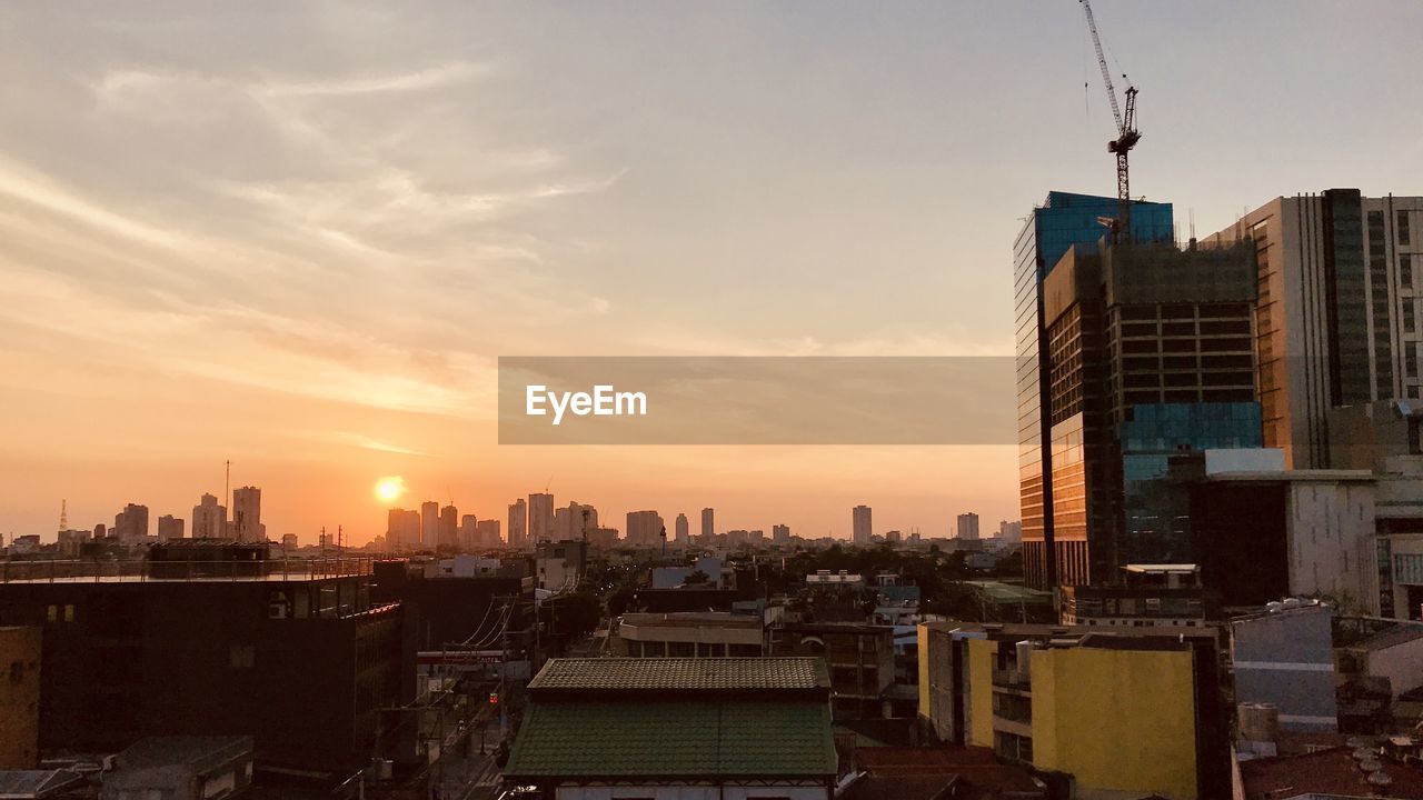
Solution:
M1228 796L1214 633L933 622L919 639L938 739L1069 774L1080 793Z

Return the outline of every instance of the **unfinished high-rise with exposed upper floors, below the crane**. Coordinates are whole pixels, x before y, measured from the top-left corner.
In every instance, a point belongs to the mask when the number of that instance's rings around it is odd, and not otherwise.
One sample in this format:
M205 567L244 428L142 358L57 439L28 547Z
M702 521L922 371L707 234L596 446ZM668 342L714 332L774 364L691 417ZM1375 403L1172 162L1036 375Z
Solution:
M1127 564L1192 562L1171 458L1261 446L1254 252L1072 245L1042 295L1056 572L1030 554L1029 582L1111 584Z

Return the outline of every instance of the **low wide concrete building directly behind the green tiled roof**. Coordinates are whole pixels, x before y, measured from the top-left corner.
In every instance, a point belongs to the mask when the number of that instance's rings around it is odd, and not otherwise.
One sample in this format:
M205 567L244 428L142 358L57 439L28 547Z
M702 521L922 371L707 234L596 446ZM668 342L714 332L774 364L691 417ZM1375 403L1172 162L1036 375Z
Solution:
M625 614L613 655L630 658L756 658L766 653L760 615L702 611Z

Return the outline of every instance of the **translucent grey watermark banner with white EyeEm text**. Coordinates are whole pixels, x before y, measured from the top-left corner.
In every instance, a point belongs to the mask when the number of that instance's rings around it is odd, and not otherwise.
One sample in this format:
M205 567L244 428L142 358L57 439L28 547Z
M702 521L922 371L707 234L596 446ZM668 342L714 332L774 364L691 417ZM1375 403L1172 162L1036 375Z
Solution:
M1017 444L1012 356L505 356L499 444Z

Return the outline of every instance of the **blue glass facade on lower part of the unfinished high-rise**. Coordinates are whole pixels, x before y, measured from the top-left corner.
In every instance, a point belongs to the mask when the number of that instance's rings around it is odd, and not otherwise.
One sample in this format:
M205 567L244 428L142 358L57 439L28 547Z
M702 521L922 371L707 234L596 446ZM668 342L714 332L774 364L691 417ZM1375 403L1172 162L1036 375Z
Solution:
M1262 447L1259 403L1131 406L1121 443L1121 564L1190 564L1187 497L1168 480L1173 458L1200 450Z

